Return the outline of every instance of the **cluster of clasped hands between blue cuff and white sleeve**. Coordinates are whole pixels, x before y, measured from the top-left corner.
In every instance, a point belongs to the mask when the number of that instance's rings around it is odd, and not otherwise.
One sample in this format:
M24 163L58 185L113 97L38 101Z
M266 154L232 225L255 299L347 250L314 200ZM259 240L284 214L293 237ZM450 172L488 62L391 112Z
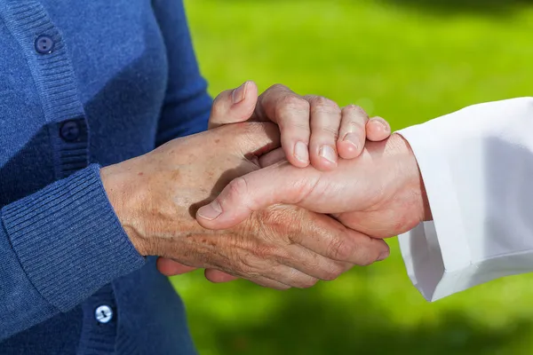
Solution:
M100 171L164 274L308 288L385 259L384 238L431 219L409 144L357 106L247 82L215 99L209 129Z

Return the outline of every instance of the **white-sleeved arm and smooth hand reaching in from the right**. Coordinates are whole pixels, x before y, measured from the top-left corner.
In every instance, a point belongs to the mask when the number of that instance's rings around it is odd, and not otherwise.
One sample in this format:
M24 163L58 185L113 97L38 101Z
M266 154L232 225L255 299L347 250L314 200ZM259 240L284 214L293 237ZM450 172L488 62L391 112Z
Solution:
M406 233L402 255L428 300L531 272L532 118L533 99L470 106L400 131L405 139L367 143L334 171L275 164L234 180L212 202L219 215L203 217L204 207L197 219L223 229L289 203L374 238ZM356 252L349 241L344 247Z

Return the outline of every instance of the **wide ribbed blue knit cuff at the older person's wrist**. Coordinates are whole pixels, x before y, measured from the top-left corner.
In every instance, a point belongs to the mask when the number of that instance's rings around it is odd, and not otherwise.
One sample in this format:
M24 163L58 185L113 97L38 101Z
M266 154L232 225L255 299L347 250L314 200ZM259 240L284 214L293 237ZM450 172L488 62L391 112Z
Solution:
M107 199L98 165L5 206L2 215L29 280L61 312L145 263Z

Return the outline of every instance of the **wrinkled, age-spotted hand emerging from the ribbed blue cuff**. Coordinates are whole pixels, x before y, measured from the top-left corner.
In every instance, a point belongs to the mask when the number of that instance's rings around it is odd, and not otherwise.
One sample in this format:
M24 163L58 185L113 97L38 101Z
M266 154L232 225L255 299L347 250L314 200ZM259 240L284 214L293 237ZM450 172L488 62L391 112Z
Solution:
M217 269L271 288L304 288L388 253L383 241L291 206L262 209L224 231L198 225L195 209L235 177L259 169L254 154L275 146L279 131L274 124L238 123L175 139L106 167L101 176L117 216L143 256ZM358 246L357 253L347 256L338 250L346 240Z

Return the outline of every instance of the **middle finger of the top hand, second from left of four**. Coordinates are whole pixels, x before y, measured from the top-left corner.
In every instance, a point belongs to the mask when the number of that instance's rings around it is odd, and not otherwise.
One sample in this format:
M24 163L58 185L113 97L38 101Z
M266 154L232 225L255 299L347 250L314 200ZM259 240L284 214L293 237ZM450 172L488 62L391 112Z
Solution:
M341 121L338 105L321 96L306 96L311 111L311 138L309 152L311 164L318 170L337 167L337 139Z

